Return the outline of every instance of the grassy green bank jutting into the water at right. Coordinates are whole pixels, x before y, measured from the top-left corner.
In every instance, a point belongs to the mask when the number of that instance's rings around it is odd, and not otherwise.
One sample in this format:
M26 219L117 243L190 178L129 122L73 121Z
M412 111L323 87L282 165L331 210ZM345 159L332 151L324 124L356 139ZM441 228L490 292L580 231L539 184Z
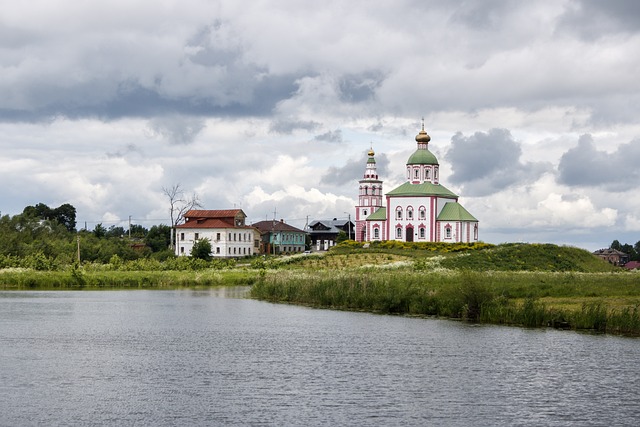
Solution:
M638 275L442 271L290 272L263 276L251 296L344 310L440 316L527 327L640 334ZM579 309L547 300L572 295ZM627 302L607 305L608 298ZM626 298L626 299L625 299Z

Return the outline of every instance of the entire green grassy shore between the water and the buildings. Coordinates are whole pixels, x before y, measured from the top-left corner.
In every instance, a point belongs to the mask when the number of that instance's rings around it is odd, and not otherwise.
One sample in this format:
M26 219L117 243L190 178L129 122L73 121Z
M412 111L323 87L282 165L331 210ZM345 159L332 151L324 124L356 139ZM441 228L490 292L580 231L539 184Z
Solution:
M640 274L552 244L346 241L290 257L4 267L5 290L251 285L250 297L279 303L640 335Z

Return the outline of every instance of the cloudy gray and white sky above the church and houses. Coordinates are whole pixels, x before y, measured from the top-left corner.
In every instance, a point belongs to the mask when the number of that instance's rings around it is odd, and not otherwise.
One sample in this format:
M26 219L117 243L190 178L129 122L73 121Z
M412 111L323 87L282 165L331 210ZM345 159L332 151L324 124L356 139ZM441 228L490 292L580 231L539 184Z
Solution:
M489 243L640 240L640 2L0 0L0 213L355 215L424 118Z

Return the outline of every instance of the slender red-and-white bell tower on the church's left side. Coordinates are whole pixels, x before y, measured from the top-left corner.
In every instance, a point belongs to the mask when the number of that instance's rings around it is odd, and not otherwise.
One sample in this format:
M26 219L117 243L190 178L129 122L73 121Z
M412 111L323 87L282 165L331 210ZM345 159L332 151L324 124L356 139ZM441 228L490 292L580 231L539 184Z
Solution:
M376 153L373 147L367 153L367 166L360 185L358 204L356 205L356 241L371 240L367 230L367 217L382 207L382 181L378 179L376 169Z

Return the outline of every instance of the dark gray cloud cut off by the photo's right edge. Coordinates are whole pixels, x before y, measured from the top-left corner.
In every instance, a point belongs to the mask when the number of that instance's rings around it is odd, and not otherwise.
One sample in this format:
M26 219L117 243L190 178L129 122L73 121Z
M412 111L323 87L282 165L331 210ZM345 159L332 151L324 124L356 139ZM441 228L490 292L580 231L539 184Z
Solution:
M623 192L640 182L640 140L621 144L614 152L596 148L593 137L582 135L578 146L560 158L558 181L577 187L604 187Z

